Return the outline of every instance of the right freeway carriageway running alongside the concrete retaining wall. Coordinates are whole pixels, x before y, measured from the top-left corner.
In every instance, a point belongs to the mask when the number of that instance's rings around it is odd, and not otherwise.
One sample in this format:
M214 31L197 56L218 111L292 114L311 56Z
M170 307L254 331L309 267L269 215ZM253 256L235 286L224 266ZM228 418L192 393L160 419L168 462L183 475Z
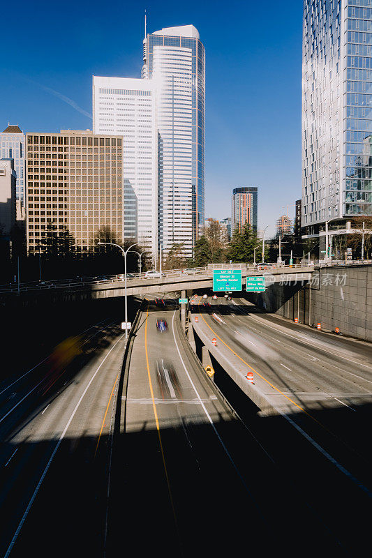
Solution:
M253 372L255 387L270 393L274 413L248 420L284 478L301 487L341 548L362 548L372 495L371 345L292 324L239 297L193 301L195 329L216 338L218 360L243 377ZM239 391L223 371L215 380L225 393ZM237 394L241 416L245 397Z

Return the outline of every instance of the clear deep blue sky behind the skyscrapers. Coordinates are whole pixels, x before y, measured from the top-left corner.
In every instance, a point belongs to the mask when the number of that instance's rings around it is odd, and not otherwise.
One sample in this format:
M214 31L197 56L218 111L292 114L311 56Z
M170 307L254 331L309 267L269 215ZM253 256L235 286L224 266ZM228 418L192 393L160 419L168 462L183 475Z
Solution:
M206 217L258 186L259 227L301 197L302 1L65 0L1 10L0 128L91 128L91 75L140 77L149 32L194 24L206 50ZM289 207L290 216L295 210Z

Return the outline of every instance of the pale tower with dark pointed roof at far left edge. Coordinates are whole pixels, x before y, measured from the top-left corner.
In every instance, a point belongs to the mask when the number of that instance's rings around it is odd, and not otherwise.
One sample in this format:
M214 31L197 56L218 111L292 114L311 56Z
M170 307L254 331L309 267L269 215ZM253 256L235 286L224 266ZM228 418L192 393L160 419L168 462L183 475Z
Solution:
M19 126L8 126L0 133L0 157L14 160L15 195L24 207L24 133Z

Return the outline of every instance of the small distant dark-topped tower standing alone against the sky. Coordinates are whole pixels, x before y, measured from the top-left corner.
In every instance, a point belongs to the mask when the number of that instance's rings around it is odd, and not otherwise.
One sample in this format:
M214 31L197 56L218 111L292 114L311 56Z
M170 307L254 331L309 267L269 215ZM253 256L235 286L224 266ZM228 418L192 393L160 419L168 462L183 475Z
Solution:
M246 223L251 229L257 231L257 202L256 186L244 186L232 190L231 234L236 228L240 232Z

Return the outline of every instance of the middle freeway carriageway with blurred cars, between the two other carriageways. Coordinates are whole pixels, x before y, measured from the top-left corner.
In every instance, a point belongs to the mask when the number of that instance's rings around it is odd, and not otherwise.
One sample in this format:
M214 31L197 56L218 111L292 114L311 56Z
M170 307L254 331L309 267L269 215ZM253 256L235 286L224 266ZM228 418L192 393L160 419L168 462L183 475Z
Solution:
M149 300L133 332L114 450L111 554L125 541L141 556L154 548L167 557L268 555L298 545L348 555L340 528L311 503L313 478L297 483L271 455L272 437L280 432L288 446L292 431L276 422L256 428L248 400L244 422L237 416L190 351L177 314L174 301ZM167 331L157 331L158 319ZM311 444L295 442L302 458L313 456Z

